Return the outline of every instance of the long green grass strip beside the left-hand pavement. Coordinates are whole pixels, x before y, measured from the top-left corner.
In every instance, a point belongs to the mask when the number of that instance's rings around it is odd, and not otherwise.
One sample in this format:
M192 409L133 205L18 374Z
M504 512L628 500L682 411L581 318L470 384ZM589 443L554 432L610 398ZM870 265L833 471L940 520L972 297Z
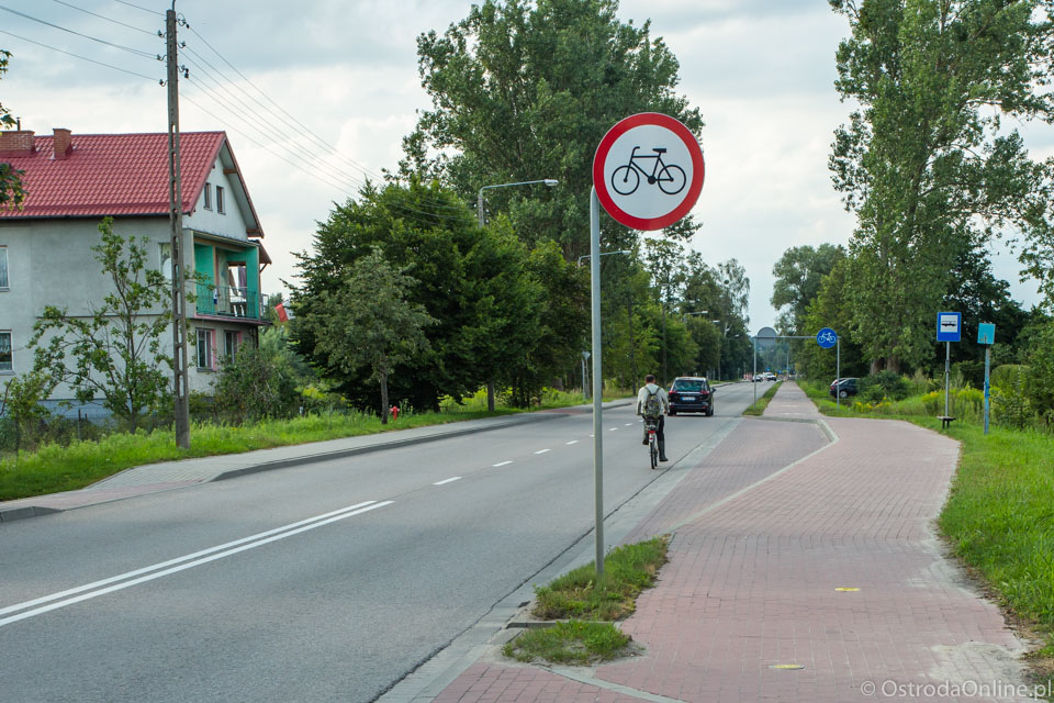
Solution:
M605 397L605 400L619 398L617 391L610 392L612 397ZM550 391L540 406L529 410L565 408L583 402L581 393ZM74 442L68 446L45 445L35 451L22 451L18 456L0 458L0 501L72 491L124 469L158 461L239 454L528 412L497 408L494 413L489 413L485 393L482 394L482 400L476 394L463 405L447 402L442 408L444 411L438 413L403 413L397 421L386 425L382 425L375 415L361 412L322 413L243 426L194 424L189 449L178 448L175 434L162 429L152 433L141 431L136 434L113 433L99 442Z

